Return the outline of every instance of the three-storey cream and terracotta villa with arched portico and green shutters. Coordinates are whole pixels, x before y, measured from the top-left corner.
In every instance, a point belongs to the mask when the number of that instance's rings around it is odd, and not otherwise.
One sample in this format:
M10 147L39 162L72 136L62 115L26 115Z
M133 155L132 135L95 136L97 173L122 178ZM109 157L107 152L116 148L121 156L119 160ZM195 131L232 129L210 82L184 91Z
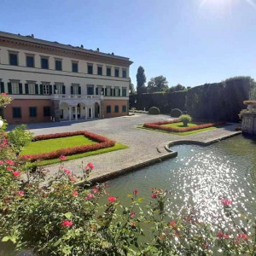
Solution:
M9 124L128 114L129 58L83 45L0 32L1 92L13 98Z

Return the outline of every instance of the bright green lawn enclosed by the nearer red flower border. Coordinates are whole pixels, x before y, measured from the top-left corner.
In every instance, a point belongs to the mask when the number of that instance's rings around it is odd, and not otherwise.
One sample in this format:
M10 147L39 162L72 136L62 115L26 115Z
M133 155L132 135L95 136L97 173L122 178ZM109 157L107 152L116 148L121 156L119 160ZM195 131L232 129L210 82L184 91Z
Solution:
M61 148L72 148L82 145L91 145L96 142L92 141L84 135L76 135L71 137L60 137L49 140L42 140L37 142L29 143L26 148L21 152L22 154L42 154L49 153Z

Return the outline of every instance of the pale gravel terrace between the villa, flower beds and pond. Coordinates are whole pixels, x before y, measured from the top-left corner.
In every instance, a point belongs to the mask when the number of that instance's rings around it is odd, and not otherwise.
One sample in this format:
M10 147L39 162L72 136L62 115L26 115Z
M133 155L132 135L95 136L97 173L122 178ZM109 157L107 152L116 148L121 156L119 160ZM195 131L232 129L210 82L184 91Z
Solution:
M123 143L129 148L97 154L77 160L65 161L64 165L76 174L81 174L81 162L92 162L96 166L90 178L93 181L103 181L109 177L118 176L122 172L131 172L154 162L173 157L173 153L166 150L166 144L183 140L185 142L199 142L202 144L216 142L225 137L241 133L235 131L237 124L195 133L189 136L178 136L158 131L138 129L138 125L170 119L168 115L138 114L112 119L97 119L86 122L61 122L47 124L29 124L28 129L35 135L64 131L91 131L116 142ZM68 146L68 145L67 145ZM56 172L59 164L47 166L51 172Z

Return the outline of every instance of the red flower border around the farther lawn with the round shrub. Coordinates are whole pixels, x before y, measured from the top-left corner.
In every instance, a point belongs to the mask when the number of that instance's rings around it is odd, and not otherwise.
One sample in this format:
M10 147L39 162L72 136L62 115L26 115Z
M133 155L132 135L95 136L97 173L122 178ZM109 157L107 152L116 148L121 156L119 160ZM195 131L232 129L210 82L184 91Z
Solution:
M224 125L224 122L217 122L217 123L208 123L204 125L195 125L191 127L185 127L185 128L177 128L177 127L168 127L163 126L167 124L173 124L173 123L179 123L181 122L180 119L172 120L172 121L160 121L160 122L154 122L154 123L145 123L143 127L156 129L156 130L163 130L163 131L172 131L172 132L185 132L185 131L195 131L200 130L203 128L208 128L212 126L218 126L218 125Z

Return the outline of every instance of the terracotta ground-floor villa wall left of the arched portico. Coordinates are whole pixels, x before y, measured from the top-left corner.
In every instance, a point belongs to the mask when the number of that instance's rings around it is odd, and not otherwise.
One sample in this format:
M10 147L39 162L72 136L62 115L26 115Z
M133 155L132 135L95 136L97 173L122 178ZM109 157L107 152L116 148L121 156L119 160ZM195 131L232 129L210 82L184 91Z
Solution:
M13 118L13 108L21 108L21 118ZM29 108L37 108L37 116L30 117ZM50 116L44 116L44 107L50 107L52 110L52 102L50 100L15 100L11 102L3 112L3 118L8 120L9 124L26 124L26 123L44 123L50 122Z

